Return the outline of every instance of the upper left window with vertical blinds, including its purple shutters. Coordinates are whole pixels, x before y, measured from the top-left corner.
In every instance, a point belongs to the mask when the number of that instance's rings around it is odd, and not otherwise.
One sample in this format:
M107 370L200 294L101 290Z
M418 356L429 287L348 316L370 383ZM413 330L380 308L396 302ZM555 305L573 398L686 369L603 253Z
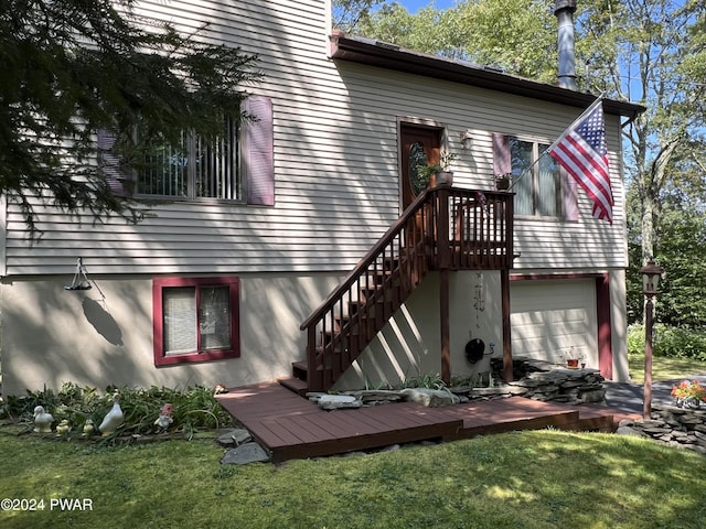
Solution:
M118 195L137 193L150 199L233 201L275 205L272 101L250 96L244 102L253 120L223 119L223 133L213 141L184 131L176 145L156 139L137 165L120 163L114 131L99 130L99 168Z

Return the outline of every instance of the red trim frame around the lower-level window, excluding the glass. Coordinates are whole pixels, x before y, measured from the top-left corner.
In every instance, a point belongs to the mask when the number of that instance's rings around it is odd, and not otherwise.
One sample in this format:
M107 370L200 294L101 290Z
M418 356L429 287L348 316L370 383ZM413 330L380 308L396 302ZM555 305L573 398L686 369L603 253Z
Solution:
M165 287L223 287L231 290L231 345L227 349L164 355L162 289ZM156 366L173 366L201 361L223 360L240 356L240 280L236 277L212 278L154 278L152 279L152 343ZM199 323L196 322L196 325Z

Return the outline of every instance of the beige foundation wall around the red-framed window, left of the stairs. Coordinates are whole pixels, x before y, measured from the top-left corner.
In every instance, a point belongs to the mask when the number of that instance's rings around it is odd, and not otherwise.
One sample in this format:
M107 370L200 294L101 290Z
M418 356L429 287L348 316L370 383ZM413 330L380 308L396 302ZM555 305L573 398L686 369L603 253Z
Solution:
M243 386L291 374L303 359L300 323L338 284L339 276L243 274L240 357L154 367L152 281L97 279L97 288L66 291L71 277L2 283L2 393L58 389L65 381L184 387Z

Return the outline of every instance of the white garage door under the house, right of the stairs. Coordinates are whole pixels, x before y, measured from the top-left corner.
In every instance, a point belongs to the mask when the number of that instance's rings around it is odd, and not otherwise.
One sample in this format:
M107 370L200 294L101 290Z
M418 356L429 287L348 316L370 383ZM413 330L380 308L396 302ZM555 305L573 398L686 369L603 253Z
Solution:
M510 300L513 356L563 361L573 347L598 364L593 280L513 281Z

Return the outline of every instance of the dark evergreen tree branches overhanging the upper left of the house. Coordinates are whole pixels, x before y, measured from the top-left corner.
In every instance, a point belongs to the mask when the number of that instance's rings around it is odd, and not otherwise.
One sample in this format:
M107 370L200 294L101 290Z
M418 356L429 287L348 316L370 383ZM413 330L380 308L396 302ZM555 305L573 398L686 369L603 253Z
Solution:
M244 118L256 57L140 18L132 0L4 0L0 10L0 193L36 235L39 204L139 222L148 206L100 171L96 134L139 152L150 137L217 134ZM205 31L205 26L201 30ZM221 118L218 118L221 116ZM146 133L136 139L136 128Z

